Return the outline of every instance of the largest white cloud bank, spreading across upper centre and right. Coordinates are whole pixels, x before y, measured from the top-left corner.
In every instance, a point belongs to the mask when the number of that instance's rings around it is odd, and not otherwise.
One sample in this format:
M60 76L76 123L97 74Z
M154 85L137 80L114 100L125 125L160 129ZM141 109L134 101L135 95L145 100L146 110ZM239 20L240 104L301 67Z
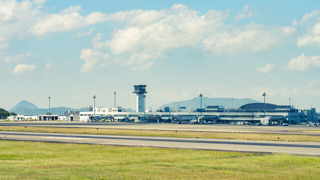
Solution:
M247 6L244 7L244 10ZM225 24L229 10L210 9L200 14L184 4L169 9L132 9L109 14L120 23L110 39L92 39L93 49L127 59L126 65L147 69L172 49L197 48L204 53L237 55L274 48L295 31L293 26L266 29L262 24ZM153 14L153 15L152 15ZM134 68L133 68L134 69Z

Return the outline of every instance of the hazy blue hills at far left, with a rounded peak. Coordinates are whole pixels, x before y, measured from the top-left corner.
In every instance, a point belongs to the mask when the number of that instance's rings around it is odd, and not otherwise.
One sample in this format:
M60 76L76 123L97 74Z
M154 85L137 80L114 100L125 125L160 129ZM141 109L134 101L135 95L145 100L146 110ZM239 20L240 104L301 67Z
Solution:
M51 107L50 112L51 114L64 114L64 111L67 110L78 110L78 111L87 111L85 107L75 109L75 108L70 108L70 107ZM33 103L26 101L26 100L21 100L19 103L14 105L9 112L15 112L17 114L23 114L23 115L43 115L46 114L49 109L48 108L38 108L36 105Z

